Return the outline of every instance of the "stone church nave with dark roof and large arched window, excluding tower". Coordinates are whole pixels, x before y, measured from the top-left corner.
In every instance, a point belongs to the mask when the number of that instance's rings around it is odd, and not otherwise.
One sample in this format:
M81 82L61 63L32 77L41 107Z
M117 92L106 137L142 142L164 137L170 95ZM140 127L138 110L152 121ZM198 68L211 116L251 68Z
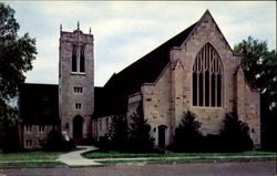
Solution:
M259 92L247 84L240 60L207 10L196 23L114 74L104 87L95 87L104 94L96 96L105 101L99 104L103 110L95 106L94 136L109 131L111 115L129 117L142 104L156 146L172 144L189 110L202 123L203 134L218 134L226 113L235 111L259 147Z

